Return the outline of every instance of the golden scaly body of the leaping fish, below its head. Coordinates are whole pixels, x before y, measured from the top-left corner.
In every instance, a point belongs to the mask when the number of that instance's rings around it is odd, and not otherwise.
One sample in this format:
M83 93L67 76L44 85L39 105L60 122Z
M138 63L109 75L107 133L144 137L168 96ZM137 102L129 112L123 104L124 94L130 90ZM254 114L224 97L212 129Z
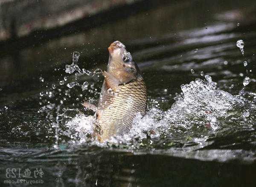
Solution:
M135 115L138 112L144 115L146 106L147 94L143 80L118 86L109 106L102 110L98 119L102 130L101 139L128 132Z

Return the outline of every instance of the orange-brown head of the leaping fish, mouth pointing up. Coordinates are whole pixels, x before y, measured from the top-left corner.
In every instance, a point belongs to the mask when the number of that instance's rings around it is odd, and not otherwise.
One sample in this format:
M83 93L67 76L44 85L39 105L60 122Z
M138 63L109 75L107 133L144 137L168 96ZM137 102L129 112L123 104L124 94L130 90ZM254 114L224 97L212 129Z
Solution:
M121 83L136 80L140 70L132 59L131 53L127 52L125 45L119 41L111 43L108 47L108 72L115 76Z

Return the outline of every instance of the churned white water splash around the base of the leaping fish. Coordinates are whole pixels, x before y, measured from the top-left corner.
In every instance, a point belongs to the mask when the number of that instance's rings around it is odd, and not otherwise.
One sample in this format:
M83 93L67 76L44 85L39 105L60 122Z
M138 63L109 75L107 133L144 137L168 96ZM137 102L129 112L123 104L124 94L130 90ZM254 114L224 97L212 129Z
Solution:
M182 131L191 134L187 141L193 141L196 148L200 148L209 144L207 141L209 132L218 132L220 127L226 125L226 121L234 123L240 118L244 120L245 115L247 118L253 115L253 112L240 112L241 108L245 106L241 98L217 89L216 83L209 75L205 75L205 79L205 81L196 79L189 84L181 85L182 93L177 95L176 102L170 109L164 112L153 107L144 117L138 113L130 132L112 137L108 143L105 142L102 146L128 146L132 149L141 146L172 147L176 145L173 140L176 136L180 136L181 129L183 129ZM90 139L88 137L91 137L92 133L91 124L94 121L95 118L92 116L81 114L70 119L68 126L74 125L72 127L76 129L76 137L80 137L77 142L88 143ZM81 129L83 130L81 131ZM198 136L199 132L202 136ZM86 137L84 138L84 136ZM162 142L160 140L164 141L161 145L159 145ZM93 142L93 144L99 145L99 142Z

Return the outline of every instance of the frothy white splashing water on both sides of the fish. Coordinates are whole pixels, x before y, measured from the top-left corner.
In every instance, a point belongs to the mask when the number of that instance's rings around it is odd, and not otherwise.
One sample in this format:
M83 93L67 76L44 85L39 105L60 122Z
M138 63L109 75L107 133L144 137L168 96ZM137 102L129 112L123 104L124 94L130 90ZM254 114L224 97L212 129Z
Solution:
M237 105L243 106L244 101L228 92L216 89L216 83L209 75L206 75L205 78L207 81L196 79L189 84L182 85L183 93L176 97L176 102L166 112L152 108L144 117L138 114L134 118L129 133L112 137L108 142L138 147L142 144L143 139L160 138L163 134L171 135L170 129L202 127L213 131L217 130L221 120L233 115L233 108ZM92 132L91 125L94 121L95 118L92 116L79 115L69 121L68 126L76 126L78 132L83 128L81 132L88 134ZM195 143L199 139L195 138ZM206 139L204 137L204 141ZM79 140L79 142L81 141Z

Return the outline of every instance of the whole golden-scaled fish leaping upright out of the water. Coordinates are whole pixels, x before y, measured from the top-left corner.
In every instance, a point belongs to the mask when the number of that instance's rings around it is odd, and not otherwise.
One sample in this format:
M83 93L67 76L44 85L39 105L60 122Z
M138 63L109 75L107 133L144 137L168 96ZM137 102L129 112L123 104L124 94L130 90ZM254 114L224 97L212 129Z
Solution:
M94 132L100 142L128 133L137 113L145 115L147 109L147 89L131 53L120 41L111 43L108 52L98 106L83 104L96 112Z

